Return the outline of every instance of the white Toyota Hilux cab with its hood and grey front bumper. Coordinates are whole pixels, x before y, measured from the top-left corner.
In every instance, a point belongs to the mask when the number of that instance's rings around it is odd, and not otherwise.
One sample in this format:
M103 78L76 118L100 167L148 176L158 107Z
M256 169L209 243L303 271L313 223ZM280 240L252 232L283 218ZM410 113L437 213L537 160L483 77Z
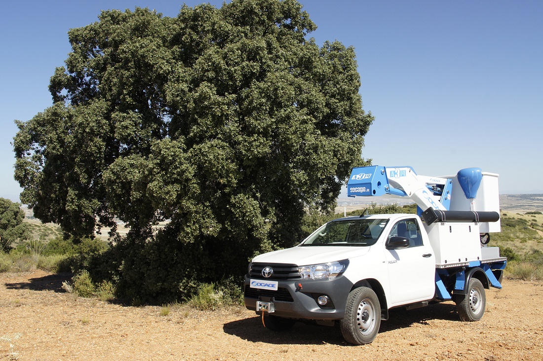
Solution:
M248 309L267 312L270 328L281 328L278 318L288 325L332 325L344 318L351 291L370 286L379 302L365 322L378 330L389 308L432 300L434 276L432 248L418 216L346 217L319 227L294 248L255 257L244 300Z

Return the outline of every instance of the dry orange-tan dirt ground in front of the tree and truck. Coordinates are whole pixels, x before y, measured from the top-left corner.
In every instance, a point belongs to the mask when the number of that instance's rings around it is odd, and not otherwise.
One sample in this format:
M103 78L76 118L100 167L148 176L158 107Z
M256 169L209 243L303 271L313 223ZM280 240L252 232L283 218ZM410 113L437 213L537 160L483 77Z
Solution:
M126 307L65 293L66 275L0 274L0 360L541 360L543 284L505 280L478 322L453 303L393 310L370 345L337 327L277 334L242 307Z

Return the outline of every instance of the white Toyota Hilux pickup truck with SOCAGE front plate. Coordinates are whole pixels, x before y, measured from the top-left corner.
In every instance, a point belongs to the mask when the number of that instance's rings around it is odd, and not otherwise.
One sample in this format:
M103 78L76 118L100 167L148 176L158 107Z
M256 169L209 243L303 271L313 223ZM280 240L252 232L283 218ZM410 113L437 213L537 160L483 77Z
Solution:
M355 172L370 174L370 170L385 178L392 172L385 167L355 168L354 178ZM394 307L411 309L454 300L460 319L481 319L484 289L501 288L507 262L500 257L499 249L484 244L488 243L489 224L497 222L499 226L499 214L455 209L460 206L450 197L456 188L452 178L432 178L430 186L425 178L427 189L433 189L435 197L428 201L441 202L448 197L451 203L447 206L452 210L428 207L419 212L420 216L339 218L319 227L293 248L253 258L245 276L245 306L261 314L264 325L274 331L287 330L298 320L330 326L339 323L345 340L356 345L371 343L381 320L387 320L388 310ZM386 182L392 188L388 179L377 177L370 183L374 181L380 187ZM446 191L441 182L448 183L450 189ZM493 182L491 179L487 188L493 188ZM401 181L392 192L407 194L408 187L399 184ZM349 186L362 188L351 182ZM364 192L367 187L373 193L368 183ZM488 203L488 192L485 197ZM490 231L495 231L495 225Z

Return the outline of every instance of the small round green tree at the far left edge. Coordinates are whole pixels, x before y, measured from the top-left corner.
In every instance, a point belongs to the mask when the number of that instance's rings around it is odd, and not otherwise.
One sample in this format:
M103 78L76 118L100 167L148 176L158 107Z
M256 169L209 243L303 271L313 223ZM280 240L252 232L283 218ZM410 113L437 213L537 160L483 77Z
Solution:
M16 240L30 237L28 224L23 223L21 205L9 199L0 198L0 251L9 251Z

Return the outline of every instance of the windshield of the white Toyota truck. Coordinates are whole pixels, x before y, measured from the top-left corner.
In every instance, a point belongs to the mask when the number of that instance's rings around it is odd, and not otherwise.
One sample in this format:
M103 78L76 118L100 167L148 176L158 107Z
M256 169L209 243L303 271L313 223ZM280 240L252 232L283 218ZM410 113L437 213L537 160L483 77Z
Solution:
M370 246L377 242L388 219L345 219L320 227L301 246Z

